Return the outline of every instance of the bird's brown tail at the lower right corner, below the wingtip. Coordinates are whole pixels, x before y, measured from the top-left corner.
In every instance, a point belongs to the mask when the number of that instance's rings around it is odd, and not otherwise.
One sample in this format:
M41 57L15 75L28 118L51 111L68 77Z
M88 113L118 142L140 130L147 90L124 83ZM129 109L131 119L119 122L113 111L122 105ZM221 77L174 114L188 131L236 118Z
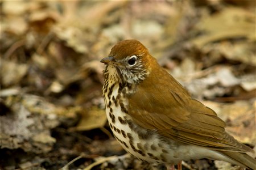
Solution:
M228 156L230 159L238 162L248 169L256 170L256 159L242 152L229 152L229 151L221 151L222 154Z

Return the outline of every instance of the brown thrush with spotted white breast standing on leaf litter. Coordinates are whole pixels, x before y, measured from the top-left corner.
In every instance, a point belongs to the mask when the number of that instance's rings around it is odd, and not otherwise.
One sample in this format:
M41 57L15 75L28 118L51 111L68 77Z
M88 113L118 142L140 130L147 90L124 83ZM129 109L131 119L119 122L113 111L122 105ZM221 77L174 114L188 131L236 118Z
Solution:
M103 94L114 137L131 155L174 169L209 158L256 169L253 150L225 131L225 122L167 73L137 40L118 42L103 58Z

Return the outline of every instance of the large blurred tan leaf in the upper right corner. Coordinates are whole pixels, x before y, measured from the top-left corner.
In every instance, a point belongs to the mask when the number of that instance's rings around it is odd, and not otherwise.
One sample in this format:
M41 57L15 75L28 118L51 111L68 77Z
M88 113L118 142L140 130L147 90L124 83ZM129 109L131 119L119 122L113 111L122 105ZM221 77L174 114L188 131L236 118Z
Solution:
M209 42L246 37L255 40L255 16L243 8L225 8L205 17L198 25L205 34L192 42L202 48ZM246 31L245 31L246 30Z

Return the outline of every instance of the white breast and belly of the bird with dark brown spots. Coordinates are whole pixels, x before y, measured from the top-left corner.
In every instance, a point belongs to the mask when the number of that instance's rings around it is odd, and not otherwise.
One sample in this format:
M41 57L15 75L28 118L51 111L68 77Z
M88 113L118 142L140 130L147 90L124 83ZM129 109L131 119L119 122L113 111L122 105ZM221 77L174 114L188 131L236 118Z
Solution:
M127 111L129 103L125 100L126 95L133 93L132 85L119 82L114 69L113 66L107 66L104 71L103 92L109 126L120 145L131 155L148 163L177 164L181 157L190 159L189 155L195 152L196 146L180 146L157 131L141 128L134 123Z

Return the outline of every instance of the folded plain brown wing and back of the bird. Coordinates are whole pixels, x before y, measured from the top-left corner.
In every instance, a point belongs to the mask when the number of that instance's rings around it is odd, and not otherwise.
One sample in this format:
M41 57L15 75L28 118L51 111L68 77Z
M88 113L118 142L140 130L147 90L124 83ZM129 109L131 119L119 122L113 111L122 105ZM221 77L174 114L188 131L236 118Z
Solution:
M128 112L138 125L158 129L175 141L213 150L251 151L226 133L225 122L212 109L191 99L165 70L151 73L139 84L129 99Z

